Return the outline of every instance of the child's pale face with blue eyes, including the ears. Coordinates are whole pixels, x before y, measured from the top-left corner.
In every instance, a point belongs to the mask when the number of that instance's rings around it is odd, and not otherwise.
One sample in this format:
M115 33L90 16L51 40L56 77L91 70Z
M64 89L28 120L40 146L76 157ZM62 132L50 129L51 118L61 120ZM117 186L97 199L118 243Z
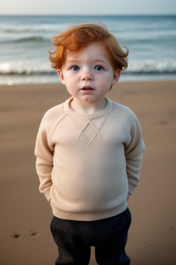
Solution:
M108 54L100 43L91 43L79 55L67 50L65 65L58 69L61 82L76 102L104 104L104 96L114 86L120 70L113 71Z

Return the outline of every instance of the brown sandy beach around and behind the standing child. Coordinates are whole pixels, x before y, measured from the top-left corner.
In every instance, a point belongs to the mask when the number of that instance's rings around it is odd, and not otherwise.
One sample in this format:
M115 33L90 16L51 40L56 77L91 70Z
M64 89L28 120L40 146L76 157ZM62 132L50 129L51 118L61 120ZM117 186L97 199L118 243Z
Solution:
M54 265L52 210L39 193L36 133L46 110L69 95L61 84L0 86L1 265ZM146 151L129 201L131 265L176 264L176 81L118 83L107 95L135 112ZM91 265L96 265L92 248Z

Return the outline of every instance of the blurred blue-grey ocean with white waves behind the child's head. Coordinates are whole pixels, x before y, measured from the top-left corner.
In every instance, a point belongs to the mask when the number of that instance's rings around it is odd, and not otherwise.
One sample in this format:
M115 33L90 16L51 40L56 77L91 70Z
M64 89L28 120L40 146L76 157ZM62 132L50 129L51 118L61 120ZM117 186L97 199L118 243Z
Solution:
M50 66L51 39L67 27L103 23L129 67L120 81L176 79L176 16L0 16L0 85L58 82Z

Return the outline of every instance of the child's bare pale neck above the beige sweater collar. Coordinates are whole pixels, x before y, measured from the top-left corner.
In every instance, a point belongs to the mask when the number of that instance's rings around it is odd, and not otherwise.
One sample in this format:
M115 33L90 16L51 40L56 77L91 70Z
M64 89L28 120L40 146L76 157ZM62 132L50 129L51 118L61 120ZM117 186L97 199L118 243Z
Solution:
M83 102L77 99L73 99L70 102L70 108L80 114L93 114L102 110L107 104L106 99L103 97L102 100L94 102Z

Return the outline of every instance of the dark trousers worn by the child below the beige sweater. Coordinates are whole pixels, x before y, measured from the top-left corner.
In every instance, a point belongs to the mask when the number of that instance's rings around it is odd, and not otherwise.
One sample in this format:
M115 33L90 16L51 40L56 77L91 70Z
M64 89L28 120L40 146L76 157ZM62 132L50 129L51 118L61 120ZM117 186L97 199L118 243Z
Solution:
M53 217L50 228L59 253L55 264L87 265L94 246L99 265L129 265L124 248L130 224L129 208L120 215L93 222Z

